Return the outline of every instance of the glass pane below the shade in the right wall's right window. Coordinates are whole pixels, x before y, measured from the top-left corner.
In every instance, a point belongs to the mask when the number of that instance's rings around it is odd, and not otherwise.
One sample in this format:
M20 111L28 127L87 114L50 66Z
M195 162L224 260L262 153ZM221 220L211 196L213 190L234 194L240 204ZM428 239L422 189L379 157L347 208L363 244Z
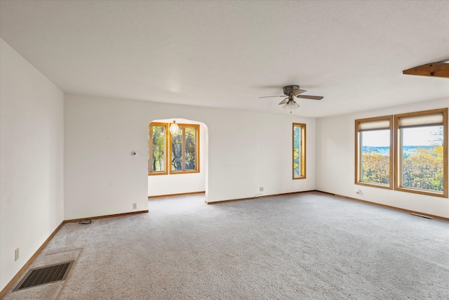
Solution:
M443 192L443 126L401 129L401 186Z

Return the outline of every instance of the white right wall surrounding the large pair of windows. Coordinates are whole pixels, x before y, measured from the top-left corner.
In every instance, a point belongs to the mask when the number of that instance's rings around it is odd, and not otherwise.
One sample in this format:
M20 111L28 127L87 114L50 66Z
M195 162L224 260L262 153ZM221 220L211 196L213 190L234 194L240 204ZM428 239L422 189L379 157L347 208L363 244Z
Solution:
M316 189L449 218L449 201L447 198L354 184L355 119L418 112L448 106L449 98L445 98L317 119ZM354 188L360 188L361 193L356 194Z

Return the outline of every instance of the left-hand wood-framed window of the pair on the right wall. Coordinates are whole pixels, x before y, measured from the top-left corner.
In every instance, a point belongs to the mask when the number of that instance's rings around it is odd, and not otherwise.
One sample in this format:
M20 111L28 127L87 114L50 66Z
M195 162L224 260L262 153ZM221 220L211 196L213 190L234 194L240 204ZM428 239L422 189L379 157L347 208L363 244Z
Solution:
M393 188L393 116L356 119L356 184Z

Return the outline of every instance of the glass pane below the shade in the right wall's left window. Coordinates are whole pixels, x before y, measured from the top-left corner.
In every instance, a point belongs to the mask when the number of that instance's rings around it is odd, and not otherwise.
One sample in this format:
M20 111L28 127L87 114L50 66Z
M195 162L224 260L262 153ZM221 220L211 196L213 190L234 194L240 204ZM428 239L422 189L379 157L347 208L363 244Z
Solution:
M362 131L360 133L360 147L360 181L389 185L390 131Z

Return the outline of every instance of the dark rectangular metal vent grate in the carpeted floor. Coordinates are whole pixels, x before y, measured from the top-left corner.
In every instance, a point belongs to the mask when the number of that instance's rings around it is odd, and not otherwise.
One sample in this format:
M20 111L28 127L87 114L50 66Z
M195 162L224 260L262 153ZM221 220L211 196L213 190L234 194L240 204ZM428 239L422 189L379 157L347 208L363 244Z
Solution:
M36 285L44 285L46 283L65 280L72 263L74 261L67 261L66 263L57 263L51 266L41 268L33 268L28 271L27 275L20 280L13 292L20 291L20 289L27 289L28 287L36 287Z

